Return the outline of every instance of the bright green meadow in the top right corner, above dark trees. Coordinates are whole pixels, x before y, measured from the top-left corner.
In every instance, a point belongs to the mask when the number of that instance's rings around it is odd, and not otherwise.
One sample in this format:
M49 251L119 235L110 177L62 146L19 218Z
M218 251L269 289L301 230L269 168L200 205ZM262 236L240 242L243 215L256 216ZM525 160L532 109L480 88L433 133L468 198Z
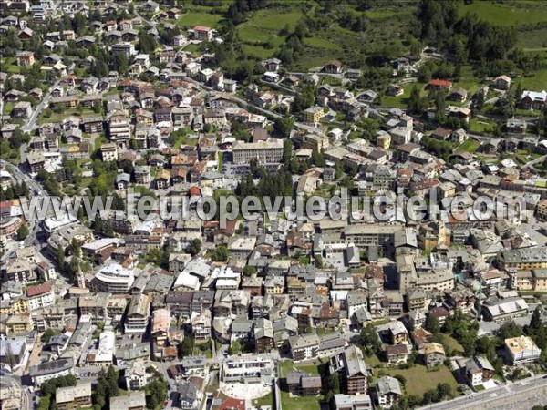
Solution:
M459 15L475 13L481 19L498 26L518 26L547 21L547 3L521 0L509 4L493 1L476 1L471 5L459 3Z

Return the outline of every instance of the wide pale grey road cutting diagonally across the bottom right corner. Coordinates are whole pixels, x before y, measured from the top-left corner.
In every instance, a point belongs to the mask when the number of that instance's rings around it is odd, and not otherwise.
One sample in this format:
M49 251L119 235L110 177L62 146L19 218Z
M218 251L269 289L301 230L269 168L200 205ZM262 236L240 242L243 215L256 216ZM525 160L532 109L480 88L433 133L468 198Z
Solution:
M501 399L504 401L513 399L514 403L518 403L520 401L519 396L523 393L531 392L547 384L545 377L547 376L540 374L514 384L504 384L499 387L484 390L480 393L473 393L471 395L457 397L453 400L427 405L421 407L420 410L456 410L466 409L472 405L478 405L484 409L494 409L498 408Z

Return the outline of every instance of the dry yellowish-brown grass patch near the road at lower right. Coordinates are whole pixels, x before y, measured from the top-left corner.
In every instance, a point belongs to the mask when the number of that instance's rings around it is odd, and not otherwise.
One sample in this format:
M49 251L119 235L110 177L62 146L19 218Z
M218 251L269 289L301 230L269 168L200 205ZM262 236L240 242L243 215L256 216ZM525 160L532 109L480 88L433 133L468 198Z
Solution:
M448 383L452 386L454 392L458 387L458 382L445 366L442 366L437 372L428 372L428 368L417 364L410 369L386 369L385 372L390 376L401 374L407 379L407 391L413 395L423 395L426 390L435 388L439 383Z

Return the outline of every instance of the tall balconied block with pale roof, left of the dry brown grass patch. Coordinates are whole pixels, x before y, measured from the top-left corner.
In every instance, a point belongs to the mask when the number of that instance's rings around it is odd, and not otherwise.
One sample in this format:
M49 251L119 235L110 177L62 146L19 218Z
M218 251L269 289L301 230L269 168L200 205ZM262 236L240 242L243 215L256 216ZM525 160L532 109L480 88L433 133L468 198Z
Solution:
M352 344L329 358L331 374L340 377L340 389L347 395L366 395L366 364L363 351Z

